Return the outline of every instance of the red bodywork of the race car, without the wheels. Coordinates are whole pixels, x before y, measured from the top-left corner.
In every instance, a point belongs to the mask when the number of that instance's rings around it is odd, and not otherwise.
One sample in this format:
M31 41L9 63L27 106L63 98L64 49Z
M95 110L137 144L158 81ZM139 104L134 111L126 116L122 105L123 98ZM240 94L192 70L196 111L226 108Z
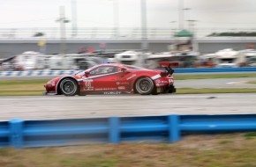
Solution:
M105 67L113 67L116 71L106 74L94 75L94 71L97 69L103 69ZM114 92L113 94L121 93L135 93L134 84L139 77L147 76L154 81L155 89L161 93L161 89L169 85L174 84L174 79L171 75L164 75L166 72L162 70L133 68L124 64L100 64L93 68L81 71L78 74L72 76L59 76L50 80L44 85L46 93L53 92L56 94L62 94L59 90L59 84L64 78L71 77L77 81L79 85L79 92L86 94L104 92Z

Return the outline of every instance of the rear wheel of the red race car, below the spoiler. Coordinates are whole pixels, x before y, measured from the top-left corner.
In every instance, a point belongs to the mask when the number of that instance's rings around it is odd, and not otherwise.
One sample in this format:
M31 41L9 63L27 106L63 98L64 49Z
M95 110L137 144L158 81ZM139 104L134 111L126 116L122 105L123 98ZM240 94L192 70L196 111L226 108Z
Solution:
M149 77L140 77L135 83L136 91L141 95L149 95L154 91L154 82Z

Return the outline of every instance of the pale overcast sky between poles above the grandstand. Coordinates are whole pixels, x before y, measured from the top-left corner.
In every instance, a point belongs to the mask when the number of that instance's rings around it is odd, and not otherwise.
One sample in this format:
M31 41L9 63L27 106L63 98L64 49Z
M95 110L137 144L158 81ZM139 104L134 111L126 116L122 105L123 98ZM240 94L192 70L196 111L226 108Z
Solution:
M59 7L72 21L72 0L0 0L0 28L58 27ZM78 27L113 27L115 0L76 0ZM140 27L140 0L117 0L120 27ZM198 28L256 28L255 0L183 0ZM117 18L117 17L116 17ZM176 21L176 23L171 23ZM68 23L67 26L72 26ZM178 0L147 0L147 26L176 28ZM184 24L186 26L186 24Z

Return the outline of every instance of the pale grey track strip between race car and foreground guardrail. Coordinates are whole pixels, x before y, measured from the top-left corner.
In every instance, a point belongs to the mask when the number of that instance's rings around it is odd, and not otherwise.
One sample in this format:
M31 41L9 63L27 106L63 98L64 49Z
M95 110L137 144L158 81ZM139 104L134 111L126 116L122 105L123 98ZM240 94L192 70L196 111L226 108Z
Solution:
M256 93L0 97L0 121L256 113Z

